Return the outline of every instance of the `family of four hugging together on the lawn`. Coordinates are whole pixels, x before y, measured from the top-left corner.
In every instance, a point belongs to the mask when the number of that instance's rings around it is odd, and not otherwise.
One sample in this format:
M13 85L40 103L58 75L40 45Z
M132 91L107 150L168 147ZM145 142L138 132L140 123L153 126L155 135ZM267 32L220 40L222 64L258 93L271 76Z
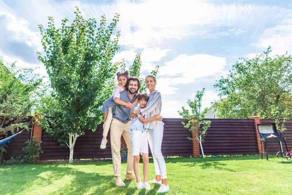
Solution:
M104 114L103 139L101 149L106 148L110 130L110 145L113 174L117 186L125 186L121 178L121 136L128 148L127 173L125 179L136 179L136 187L150 190L149 183L160 184L158 193L170 191L166 180L166 166L161 153L164 123L160 116L162 100L155 90L156 77L146 77L146 87L150 94L139 93L139 78L129 77L128 71L117 73L118 84L113 96L103 104ZM138 106L137 106L138 105ZM147 182L148 177L148 143L153 156L156 177ZM139 173L140 154L143 159L143 182ZM133 175L133 171L135 175Z

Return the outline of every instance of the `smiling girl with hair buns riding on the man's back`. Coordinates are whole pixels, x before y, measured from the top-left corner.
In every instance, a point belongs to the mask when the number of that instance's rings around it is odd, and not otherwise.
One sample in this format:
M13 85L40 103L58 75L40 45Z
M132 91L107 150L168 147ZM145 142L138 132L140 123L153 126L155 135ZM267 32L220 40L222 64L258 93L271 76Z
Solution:
M129 78L129 72L128 70L126 70L125 72L117 72L117 79L118 79L118 84L114 87L113 90L113 99L114 102L123 106L126 106L127 108L133 108L134 105L136 105L136 103L138 102L138 98L136 99L135 102L130 103L130 102L125 102L120 100L120 92L125 91L125 85L127 82L127 79ZM102 105L103 106L103 110L104 107L106 107L105 104ZM104 124L103 124L103 138L101 140L101 144L100 144L100 148L101 149L105 149L107 147L107 136L110 130L110 123L112 120L112 107L108 108L109 109L109 113L108 114L104 114Z

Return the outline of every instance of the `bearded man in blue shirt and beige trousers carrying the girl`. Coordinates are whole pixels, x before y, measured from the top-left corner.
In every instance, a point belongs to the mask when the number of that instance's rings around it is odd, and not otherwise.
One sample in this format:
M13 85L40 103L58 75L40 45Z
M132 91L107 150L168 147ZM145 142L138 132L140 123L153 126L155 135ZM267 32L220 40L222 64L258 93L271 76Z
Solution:
M120 99L125 102L133 103L137 98L137 93L141 87L139 78L128 78L125 87L126 90L120 93ZM107 114L107 110L104 110L103 113ZM133 155L132 145L130 142L130 109L126 106L115 104L112 109L112 117L113 118L110 125L110 145L113 174L116 177L115 184L117 186L125 186L125 183L121 178L121 136L124 137L128 148L127 174L125 179L136 179L133 175Z

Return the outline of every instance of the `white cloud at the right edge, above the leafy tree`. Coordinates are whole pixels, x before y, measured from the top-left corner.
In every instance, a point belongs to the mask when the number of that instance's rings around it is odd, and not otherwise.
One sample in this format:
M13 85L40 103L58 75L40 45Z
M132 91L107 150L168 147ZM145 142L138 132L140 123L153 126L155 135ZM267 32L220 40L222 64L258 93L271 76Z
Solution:
M272 46L272 55L283 55L286 51L292 53L292 19L283 20L273 28L268 28L260 36L257 43L252 44L261 50Z

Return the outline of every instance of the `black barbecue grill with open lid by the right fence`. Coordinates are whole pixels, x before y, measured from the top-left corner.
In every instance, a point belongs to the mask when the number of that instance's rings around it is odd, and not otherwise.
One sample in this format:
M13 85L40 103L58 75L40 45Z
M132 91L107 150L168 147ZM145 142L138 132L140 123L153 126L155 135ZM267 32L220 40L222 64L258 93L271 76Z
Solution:
M257 129L259 132L259 139L260 139L261 159L263 159L262 145L264 144L266 157L267 157L267 160L269 160L267 142L278 142L279 147L280 147L280 152L278 154L280 154L281 157L283 154L285 156L285 153L283 152L282 141L285 143L285 146L288 152L286 138L284 137L283 133L277 132L275 124L258 124Z

